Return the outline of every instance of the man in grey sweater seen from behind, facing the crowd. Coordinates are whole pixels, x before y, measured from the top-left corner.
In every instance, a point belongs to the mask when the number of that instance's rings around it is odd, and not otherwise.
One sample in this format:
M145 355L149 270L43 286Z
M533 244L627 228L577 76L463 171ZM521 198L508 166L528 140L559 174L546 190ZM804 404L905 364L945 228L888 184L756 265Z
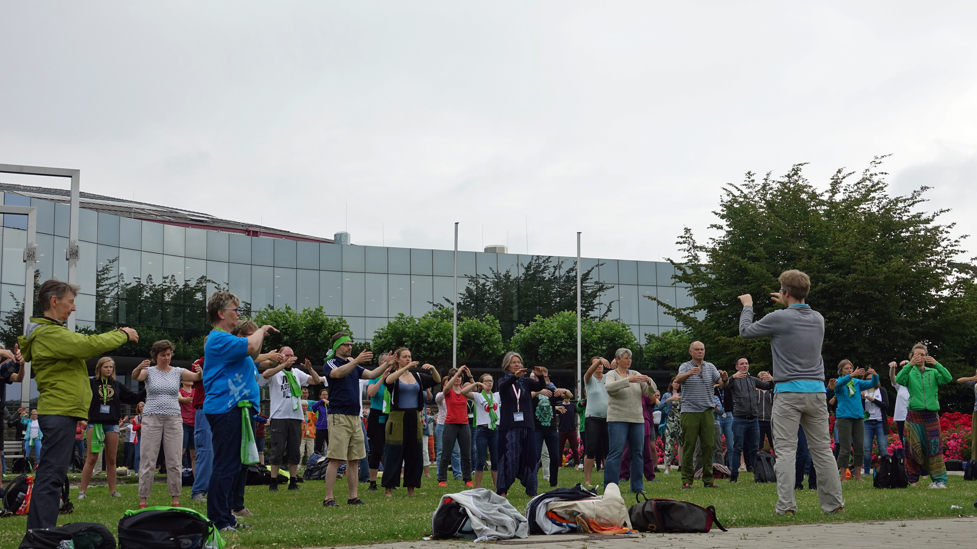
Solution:
M821 347L825 339L825 317L804 303L811 289L811 278L796 270L780 276L781 291L770 294L786 309L774 311L753 321L753 298L740 296L740 335L745 338L770 337L774 357L773 430L777 453L778 515L797 512L794 499L794 470L797 453L797 424L804 428L811 461L818 477L818 499L825 513L844 511L841 482L831 453L828 436L828 406L825 394L825 361Z

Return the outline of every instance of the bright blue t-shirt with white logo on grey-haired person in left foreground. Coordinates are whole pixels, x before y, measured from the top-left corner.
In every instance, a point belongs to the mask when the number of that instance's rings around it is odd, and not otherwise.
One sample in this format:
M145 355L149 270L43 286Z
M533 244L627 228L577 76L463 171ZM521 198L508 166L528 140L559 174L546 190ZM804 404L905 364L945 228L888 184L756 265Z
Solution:
M258 368L247 353L247 338L211 330L203 348L203 412L227 413L239 401L258 409Z

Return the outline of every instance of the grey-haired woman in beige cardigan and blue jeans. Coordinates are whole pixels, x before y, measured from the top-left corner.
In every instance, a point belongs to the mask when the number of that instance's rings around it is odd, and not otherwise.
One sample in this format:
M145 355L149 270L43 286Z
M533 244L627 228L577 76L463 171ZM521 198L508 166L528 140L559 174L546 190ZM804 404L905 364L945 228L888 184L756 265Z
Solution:
M620 458L624 443L628 443L631 458L631 491L644 492L645 481L641 475L644 466L642 456L645 445L645 416L641 409L641 396L655 397L658 387L647 375L629 369L631 351L618 349L615 353L616 368L604 374L604 387L608 392L607 460L604 463L604 486L617 483Z

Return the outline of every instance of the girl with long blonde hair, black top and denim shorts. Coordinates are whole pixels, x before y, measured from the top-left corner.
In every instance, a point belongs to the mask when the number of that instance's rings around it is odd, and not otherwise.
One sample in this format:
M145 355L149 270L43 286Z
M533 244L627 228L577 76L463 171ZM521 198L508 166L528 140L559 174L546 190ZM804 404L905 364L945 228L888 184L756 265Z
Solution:
M115 491L115 454L119 443L119 419L122 417L121 403L137 405L143 395L135 393L115 379L115 362L108 357L99 359L95 365L92 384L92 403L88 408L88 428L85 439L88 442L88 455L81 471L81 486L78 486L78 499L87 497L88 483L92 480L95 465L100 463L99 454L106 454L106 478L108 495L121 497Z

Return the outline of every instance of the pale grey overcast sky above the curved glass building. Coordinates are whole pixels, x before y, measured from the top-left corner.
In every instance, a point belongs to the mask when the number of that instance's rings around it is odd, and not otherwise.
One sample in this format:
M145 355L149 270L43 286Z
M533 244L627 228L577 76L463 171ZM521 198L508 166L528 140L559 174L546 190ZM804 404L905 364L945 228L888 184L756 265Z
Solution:
M893 192L977 232L977 5L687 6L0 0L0 162L357 244L458 221L462 249L657 260L746 171L892 153ZM0 176L64 185L27 179Z

